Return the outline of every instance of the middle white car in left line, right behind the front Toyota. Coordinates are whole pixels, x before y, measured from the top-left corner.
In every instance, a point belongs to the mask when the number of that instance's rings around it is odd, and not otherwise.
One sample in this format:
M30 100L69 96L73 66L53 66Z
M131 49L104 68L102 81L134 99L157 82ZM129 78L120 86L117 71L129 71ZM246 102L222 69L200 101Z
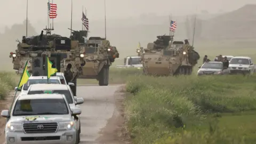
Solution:
M79 108L79 105L84 103L83 98L75 97L70 87L63 84L33 84L29 87L27 95L44 93L64 94L71 110ZM78 127L79 133L81 133L80 115L78 116ZM78 141L80 141L80 135L78 135Z

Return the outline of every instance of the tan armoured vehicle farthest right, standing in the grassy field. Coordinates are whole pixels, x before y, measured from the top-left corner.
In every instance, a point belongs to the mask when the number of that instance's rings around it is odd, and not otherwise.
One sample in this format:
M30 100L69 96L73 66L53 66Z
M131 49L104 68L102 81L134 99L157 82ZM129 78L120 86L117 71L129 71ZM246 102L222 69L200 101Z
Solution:
M157 36L144 51L143 73L150 75L190 75L200 58L193 46L173 41L173 36Z

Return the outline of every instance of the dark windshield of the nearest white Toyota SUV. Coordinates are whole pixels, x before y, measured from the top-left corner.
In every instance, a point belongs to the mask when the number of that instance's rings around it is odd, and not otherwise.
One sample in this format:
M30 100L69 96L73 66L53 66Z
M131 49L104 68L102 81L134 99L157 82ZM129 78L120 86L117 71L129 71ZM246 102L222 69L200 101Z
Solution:
M67 115L68 113L64 99L18 100L13 110L13 116Z

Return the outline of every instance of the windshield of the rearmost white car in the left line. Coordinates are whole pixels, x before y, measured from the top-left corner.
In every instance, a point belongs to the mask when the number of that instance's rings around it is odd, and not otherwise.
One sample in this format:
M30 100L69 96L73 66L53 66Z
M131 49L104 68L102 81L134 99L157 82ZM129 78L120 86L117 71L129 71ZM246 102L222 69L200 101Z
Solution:
M23 86L23 90L27 91L28 87L31 84L47 84L47 83L60 84L58 79L48 79L48 82L47 82L47 79L28 79L28 82L26 84L24 84L24 86Z

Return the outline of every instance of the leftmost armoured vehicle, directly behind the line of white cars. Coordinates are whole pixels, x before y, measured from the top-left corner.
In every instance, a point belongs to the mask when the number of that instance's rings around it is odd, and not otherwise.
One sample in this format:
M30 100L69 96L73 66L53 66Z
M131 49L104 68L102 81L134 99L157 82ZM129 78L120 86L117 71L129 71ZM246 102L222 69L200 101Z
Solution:
M71 71L76 78L82 73L82 67L85 62L81 56L78 42L71 41L70 38L62 37L56 34L49 34L49 29L46 30L46 35L41 31L41 35L25 37L22 42L17 45L17 50L10 53L12 58L13 69L17 70L17 74L22 74L25 63L28 60L28 70L33 75L44 75L45 55L53 63L52 67L57 68L59 72L63 73L66 70L68 63L72 65ZM75 86L76 87L76 86ZM76 90L74 91L74 94Z

